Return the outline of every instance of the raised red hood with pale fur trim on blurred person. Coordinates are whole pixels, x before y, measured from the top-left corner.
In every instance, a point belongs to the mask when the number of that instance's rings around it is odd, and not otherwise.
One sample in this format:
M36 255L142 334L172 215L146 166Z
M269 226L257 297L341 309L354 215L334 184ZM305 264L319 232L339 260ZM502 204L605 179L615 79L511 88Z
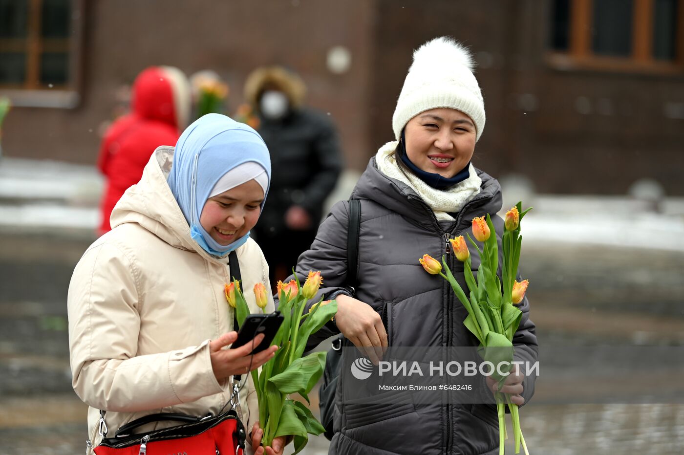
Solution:
M137 116L183 129L190 114L189 83L178 68L150 66L135 78L131 106Z

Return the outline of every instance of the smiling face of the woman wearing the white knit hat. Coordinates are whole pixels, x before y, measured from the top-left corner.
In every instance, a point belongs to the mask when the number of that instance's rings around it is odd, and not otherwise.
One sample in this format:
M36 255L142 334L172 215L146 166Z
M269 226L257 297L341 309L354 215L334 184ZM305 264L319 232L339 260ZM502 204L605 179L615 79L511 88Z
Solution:
M404 130L406 155L419 169L451 179L473 157L475 124L466 114L449 107L421 112Z

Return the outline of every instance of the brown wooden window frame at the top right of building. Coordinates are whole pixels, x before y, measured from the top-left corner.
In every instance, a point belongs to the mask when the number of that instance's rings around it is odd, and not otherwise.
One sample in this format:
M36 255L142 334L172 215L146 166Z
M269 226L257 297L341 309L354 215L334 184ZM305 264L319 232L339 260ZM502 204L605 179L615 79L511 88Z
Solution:
M594 0L570 0L568 50L551 49L547 63L562 70L604 70L623 73L681 75L684 72L684 0L677 1L674 60L653 57L654 0L633 0L632 49L629 57L597 55L592 52Z

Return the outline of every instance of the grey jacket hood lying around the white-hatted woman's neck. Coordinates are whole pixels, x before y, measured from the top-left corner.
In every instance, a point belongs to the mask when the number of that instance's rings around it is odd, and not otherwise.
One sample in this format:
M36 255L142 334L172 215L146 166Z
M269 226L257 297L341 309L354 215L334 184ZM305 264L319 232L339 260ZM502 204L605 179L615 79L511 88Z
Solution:
M482 179L482 190L458 213L456 217L458 226L471 223L468 213L475 208L482 211L484 207L487 213L497 213L502 207L499 181L482 170L477 168L475 170ZM358 179L352 198L373 200L409 220L415 220L425 226L432 225L435 230L440 230L432 209L425 201L406 183L387 177L380 172L376 157L371 158L366 170Z

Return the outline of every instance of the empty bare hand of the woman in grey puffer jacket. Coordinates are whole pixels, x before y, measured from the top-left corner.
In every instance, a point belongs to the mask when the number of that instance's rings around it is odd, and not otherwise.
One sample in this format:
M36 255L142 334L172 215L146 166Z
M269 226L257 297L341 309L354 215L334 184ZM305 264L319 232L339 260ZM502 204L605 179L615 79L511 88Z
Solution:
M378 365L387 347L387 332L382 318L369 304L350 296L337 296L335 324L340 332Z

